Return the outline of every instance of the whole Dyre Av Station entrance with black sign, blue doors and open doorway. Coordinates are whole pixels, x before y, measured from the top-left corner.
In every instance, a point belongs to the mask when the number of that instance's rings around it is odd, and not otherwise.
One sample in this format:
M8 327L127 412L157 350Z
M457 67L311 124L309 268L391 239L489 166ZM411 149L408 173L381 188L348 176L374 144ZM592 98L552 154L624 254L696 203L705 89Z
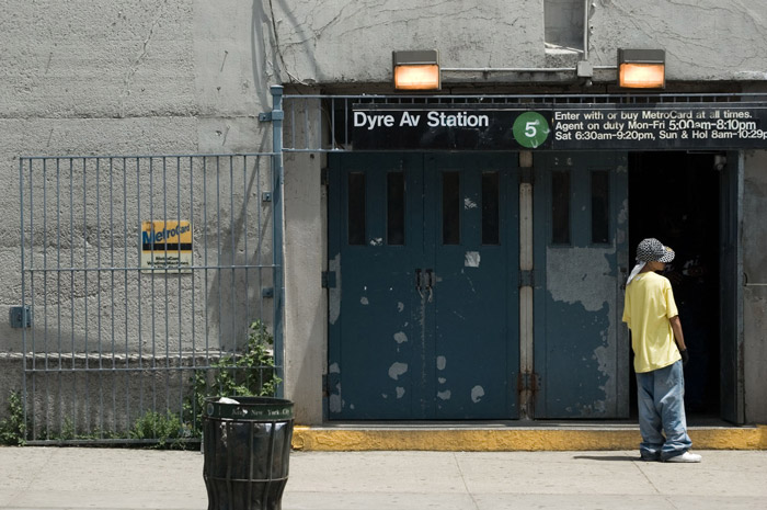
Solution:
M688 413L743 421L737 150L767 109L295 100L286 151L327 157L327 420L632 418L625 281L656 237L677 251Z

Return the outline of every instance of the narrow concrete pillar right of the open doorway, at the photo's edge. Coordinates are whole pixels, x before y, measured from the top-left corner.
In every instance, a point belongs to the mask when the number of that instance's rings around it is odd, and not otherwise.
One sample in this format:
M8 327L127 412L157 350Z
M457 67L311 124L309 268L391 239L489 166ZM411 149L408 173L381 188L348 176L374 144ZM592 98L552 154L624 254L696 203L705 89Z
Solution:
M743 365L746 421L767 422L767 151L745 155Z

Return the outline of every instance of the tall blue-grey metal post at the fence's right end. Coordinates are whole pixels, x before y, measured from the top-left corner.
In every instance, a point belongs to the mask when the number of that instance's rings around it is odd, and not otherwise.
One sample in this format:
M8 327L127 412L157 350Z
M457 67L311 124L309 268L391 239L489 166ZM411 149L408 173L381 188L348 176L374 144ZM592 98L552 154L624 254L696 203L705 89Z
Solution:
M274 207L274 246L272 257L274 263L274 364L278 367L282 378L285 374L285 343L284 343L284 298L285 282L283 275L284 246L283 246L283 87L272 86L272 178L273 178L273 207ZM284 384L276 389L276 397L283 397Z

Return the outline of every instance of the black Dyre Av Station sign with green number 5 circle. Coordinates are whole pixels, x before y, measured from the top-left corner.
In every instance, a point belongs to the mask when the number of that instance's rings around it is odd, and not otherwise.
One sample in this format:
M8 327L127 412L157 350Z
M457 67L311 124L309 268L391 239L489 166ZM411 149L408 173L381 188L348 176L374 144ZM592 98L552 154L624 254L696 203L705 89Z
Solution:
M767 104L356 104L355 150L767 148Z

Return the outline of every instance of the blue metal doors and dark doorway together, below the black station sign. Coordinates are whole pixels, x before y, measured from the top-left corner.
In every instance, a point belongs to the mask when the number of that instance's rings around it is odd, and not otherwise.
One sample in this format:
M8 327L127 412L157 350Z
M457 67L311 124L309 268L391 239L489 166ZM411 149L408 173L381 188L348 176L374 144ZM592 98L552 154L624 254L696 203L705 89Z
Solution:
M720 417L729 199L717 165L725 159L550 152L534 155L527 172L518 152L334 155L330 418L518 419L526 389L528 418L632 416L620 318L633 247L645 237L677 251L665 275L692 356L688 412ZM528 180L534 270L525 272L519 252L530 239L519 202ZM526 285L529 311L520 307ZM520 322L529 320L533 344L524 345Z

